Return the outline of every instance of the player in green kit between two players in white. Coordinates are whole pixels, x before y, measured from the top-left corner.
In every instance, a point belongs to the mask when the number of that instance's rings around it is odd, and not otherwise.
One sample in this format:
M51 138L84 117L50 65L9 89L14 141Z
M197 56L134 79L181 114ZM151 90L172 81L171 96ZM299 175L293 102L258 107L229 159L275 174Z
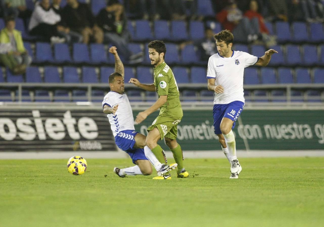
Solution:
M166 161L164 150L157 144L157 141L165 139L178 164L177 177L186 178L189 176L189 173L184 169L182 149L177 142L177 125L182 119L183 112L176 79L170 67L164 62L166 51L167 49L163 41L155 40L148 44L151 65L155 66L154 84L141 84L135 78L131 78L129 81L144 90L156 91L159 95L157 101L150 108L138 113L135 123L141 123L148 115L160 108L159 115L147 129L149 132L145 144L152 150L160 162L164 162L164 160ZM154 177L153 179L171 179L171 175L166 173L161 177Z

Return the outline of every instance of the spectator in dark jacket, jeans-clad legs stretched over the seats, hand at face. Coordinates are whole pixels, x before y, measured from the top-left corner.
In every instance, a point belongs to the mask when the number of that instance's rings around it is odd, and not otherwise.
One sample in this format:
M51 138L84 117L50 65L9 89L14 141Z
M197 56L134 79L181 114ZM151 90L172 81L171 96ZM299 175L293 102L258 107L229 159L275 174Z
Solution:
M116 46L118 52L130 63L143 61L143 53L132 55L128 48L129 33L124 6L118 0L110 0L107 7L100 10L97 16L98 26L104 31L104 42Z

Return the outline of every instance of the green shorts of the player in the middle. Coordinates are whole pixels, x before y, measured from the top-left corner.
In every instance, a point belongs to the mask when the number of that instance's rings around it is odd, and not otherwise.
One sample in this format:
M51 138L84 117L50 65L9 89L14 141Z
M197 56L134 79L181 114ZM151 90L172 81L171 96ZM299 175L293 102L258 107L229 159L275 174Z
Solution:
M158 116L148 127L147 131L151 131L154 128L157 128L160 132L161 139L164 137L170 139L177 139L177 125L180 123L182 117L163 117Z

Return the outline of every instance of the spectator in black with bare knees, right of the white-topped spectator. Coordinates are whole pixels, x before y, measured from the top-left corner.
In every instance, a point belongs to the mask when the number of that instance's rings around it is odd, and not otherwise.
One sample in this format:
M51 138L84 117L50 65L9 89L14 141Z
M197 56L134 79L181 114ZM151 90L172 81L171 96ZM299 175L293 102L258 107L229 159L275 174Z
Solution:
M95 17L89 5L79 3L77 0L67 0L62 15L63 25L71 31L82 34L83 43L88 44L92 40L96 43L103 42L103 31L95 24Z

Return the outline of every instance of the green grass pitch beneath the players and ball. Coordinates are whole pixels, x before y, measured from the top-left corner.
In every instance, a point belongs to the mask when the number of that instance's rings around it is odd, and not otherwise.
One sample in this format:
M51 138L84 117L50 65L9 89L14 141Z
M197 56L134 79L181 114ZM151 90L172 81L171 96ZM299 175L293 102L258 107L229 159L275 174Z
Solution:
M0 226L322 226L324 158L186 159L190 177L119 178L130 159L0 160ZM170 163L172 160L169 160ZM106 175L106 176L105 176Z

